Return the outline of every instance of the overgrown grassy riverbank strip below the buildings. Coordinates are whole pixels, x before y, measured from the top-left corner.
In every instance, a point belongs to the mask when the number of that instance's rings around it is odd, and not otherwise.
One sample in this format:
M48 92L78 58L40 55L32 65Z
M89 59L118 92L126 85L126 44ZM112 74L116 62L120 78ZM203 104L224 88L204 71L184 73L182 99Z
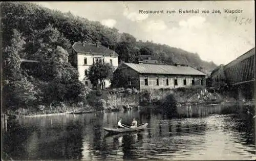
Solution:
M87 99L78 103L54 103L52 107L38 105L37 108L10 110L13 118L41 117L63 114L82 114L96 111L114 112L130 109L151 109L177 115L177 109L191 105L238 105L253 106L254 100L238 100L230 93L219 93L212 88L181 87L139 91L130 88L90 90Z

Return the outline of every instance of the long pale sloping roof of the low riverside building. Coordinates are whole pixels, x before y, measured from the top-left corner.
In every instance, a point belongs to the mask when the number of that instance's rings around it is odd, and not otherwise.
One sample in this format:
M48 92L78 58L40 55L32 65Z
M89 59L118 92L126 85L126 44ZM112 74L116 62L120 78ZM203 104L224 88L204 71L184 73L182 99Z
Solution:
M135 64L124 63L141 74L175 74L175 75L197 75L206 76L206 74L190 66L174 66L162 64Z

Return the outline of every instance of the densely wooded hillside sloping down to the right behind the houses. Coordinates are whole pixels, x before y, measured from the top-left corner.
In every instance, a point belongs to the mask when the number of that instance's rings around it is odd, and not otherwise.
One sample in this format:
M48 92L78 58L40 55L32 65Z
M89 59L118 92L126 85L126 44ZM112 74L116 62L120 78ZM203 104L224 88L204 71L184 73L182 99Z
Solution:
M32 35L38 30L44 30L47 26L52 25L69 40L70 44L67 44L66 50L71 48L74 42L95 43L100 41L102 45L110 47L119 54L119 61L134 62L138 55L154 55L159 61L166 64L189 65L205 73L210 73L217 67L212 61L201 60L198 54L165 44L138 41L133 35L119 33L115 28L111 29L101 25L98 21L74 16L70 12L62 13L25 2L4 2L1 4L1 8L3 46L10 43L12 29L16 29L25 37L26 44L28 44L24 56L27 58L33 59L34 55L31 45L29 46Z

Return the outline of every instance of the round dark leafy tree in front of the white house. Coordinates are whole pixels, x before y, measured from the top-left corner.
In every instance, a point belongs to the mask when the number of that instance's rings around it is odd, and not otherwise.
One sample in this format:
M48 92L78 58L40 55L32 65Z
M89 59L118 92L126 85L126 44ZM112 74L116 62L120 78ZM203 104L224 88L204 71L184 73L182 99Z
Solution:
M111 80L114 68L109 63L96 62L89 67L87 77L93 84L98 84L103 89L103 82Z

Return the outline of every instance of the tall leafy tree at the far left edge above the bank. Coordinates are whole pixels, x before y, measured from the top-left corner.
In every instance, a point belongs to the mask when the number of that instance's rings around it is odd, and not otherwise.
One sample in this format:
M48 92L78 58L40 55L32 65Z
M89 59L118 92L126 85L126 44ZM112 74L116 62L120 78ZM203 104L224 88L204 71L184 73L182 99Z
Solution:
M17 30L13 30L11 45L3 51L3 102L5 107L27 106L36 100L36 87L27 80L20 69L20 57L24 51L24 38Z

